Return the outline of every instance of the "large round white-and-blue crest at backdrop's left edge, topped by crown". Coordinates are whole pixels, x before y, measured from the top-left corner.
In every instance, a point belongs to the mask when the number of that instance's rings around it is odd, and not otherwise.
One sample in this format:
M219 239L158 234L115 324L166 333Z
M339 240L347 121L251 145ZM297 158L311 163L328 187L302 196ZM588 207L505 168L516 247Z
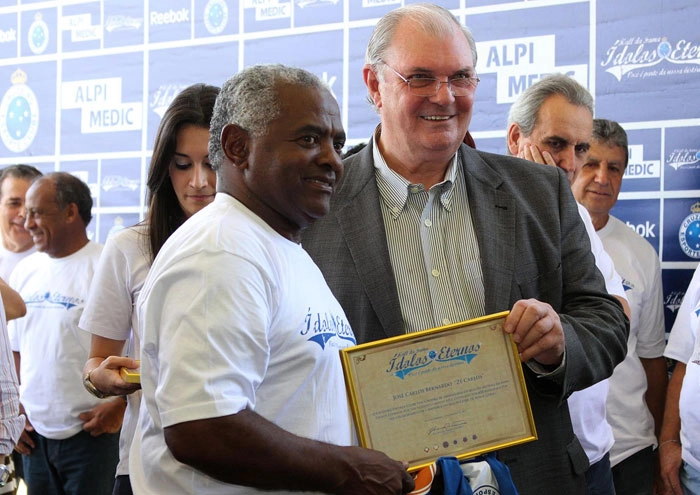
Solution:
M21 153L29 148L39 128L39 104L26 85L27 74L17 69L12 86L0 101L0 139L10 151Z

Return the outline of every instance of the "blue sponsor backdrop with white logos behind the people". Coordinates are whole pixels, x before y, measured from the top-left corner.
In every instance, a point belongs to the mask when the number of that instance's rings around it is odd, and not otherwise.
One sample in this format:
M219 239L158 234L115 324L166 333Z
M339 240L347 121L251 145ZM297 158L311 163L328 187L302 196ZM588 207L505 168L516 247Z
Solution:
M0 0L0 166L66 170L91 187L90 236L143 218L155 129L173 96L265 62L307 68L348 144L377 115L361 67L376 20L409 0ZM503 153L510 104L543 75L588 87L630 136L615 213L656 248L670 328L700 260L697 0L442 0L477 40L471 132Z

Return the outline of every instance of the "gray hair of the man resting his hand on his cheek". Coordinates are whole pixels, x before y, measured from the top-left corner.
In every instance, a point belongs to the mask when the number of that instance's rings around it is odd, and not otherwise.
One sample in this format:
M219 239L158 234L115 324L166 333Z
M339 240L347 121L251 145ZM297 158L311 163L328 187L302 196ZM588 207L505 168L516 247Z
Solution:
M537 125L540 108L554 95L563 96L572 105L586 107L593 115L593 97L586 88L569 76L551 74L527 88L513 103L508 113L508 127L518 124L520 133L528 137Z

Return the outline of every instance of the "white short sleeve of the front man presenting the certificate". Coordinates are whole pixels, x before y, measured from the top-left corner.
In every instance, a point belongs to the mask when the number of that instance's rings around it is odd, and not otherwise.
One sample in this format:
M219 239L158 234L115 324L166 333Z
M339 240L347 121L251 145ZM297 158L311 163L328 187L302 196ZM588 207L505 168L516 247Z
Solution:
M155 372L148 380L163 426L254 407L270 345L262 272L218 251L152 276L137 303L141 368Z

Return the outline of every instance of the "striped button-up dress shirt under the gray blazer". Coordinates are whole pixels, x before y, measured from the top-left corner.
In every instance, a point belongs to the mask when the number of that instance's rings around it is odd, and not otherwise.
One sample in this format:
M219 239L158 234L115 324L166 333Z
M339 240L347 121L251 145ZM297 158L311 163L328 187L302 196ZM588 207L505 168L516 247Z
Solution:
M459 154L428 191L391 170L379 146L374 164L404 330L483 316L481 259Z

